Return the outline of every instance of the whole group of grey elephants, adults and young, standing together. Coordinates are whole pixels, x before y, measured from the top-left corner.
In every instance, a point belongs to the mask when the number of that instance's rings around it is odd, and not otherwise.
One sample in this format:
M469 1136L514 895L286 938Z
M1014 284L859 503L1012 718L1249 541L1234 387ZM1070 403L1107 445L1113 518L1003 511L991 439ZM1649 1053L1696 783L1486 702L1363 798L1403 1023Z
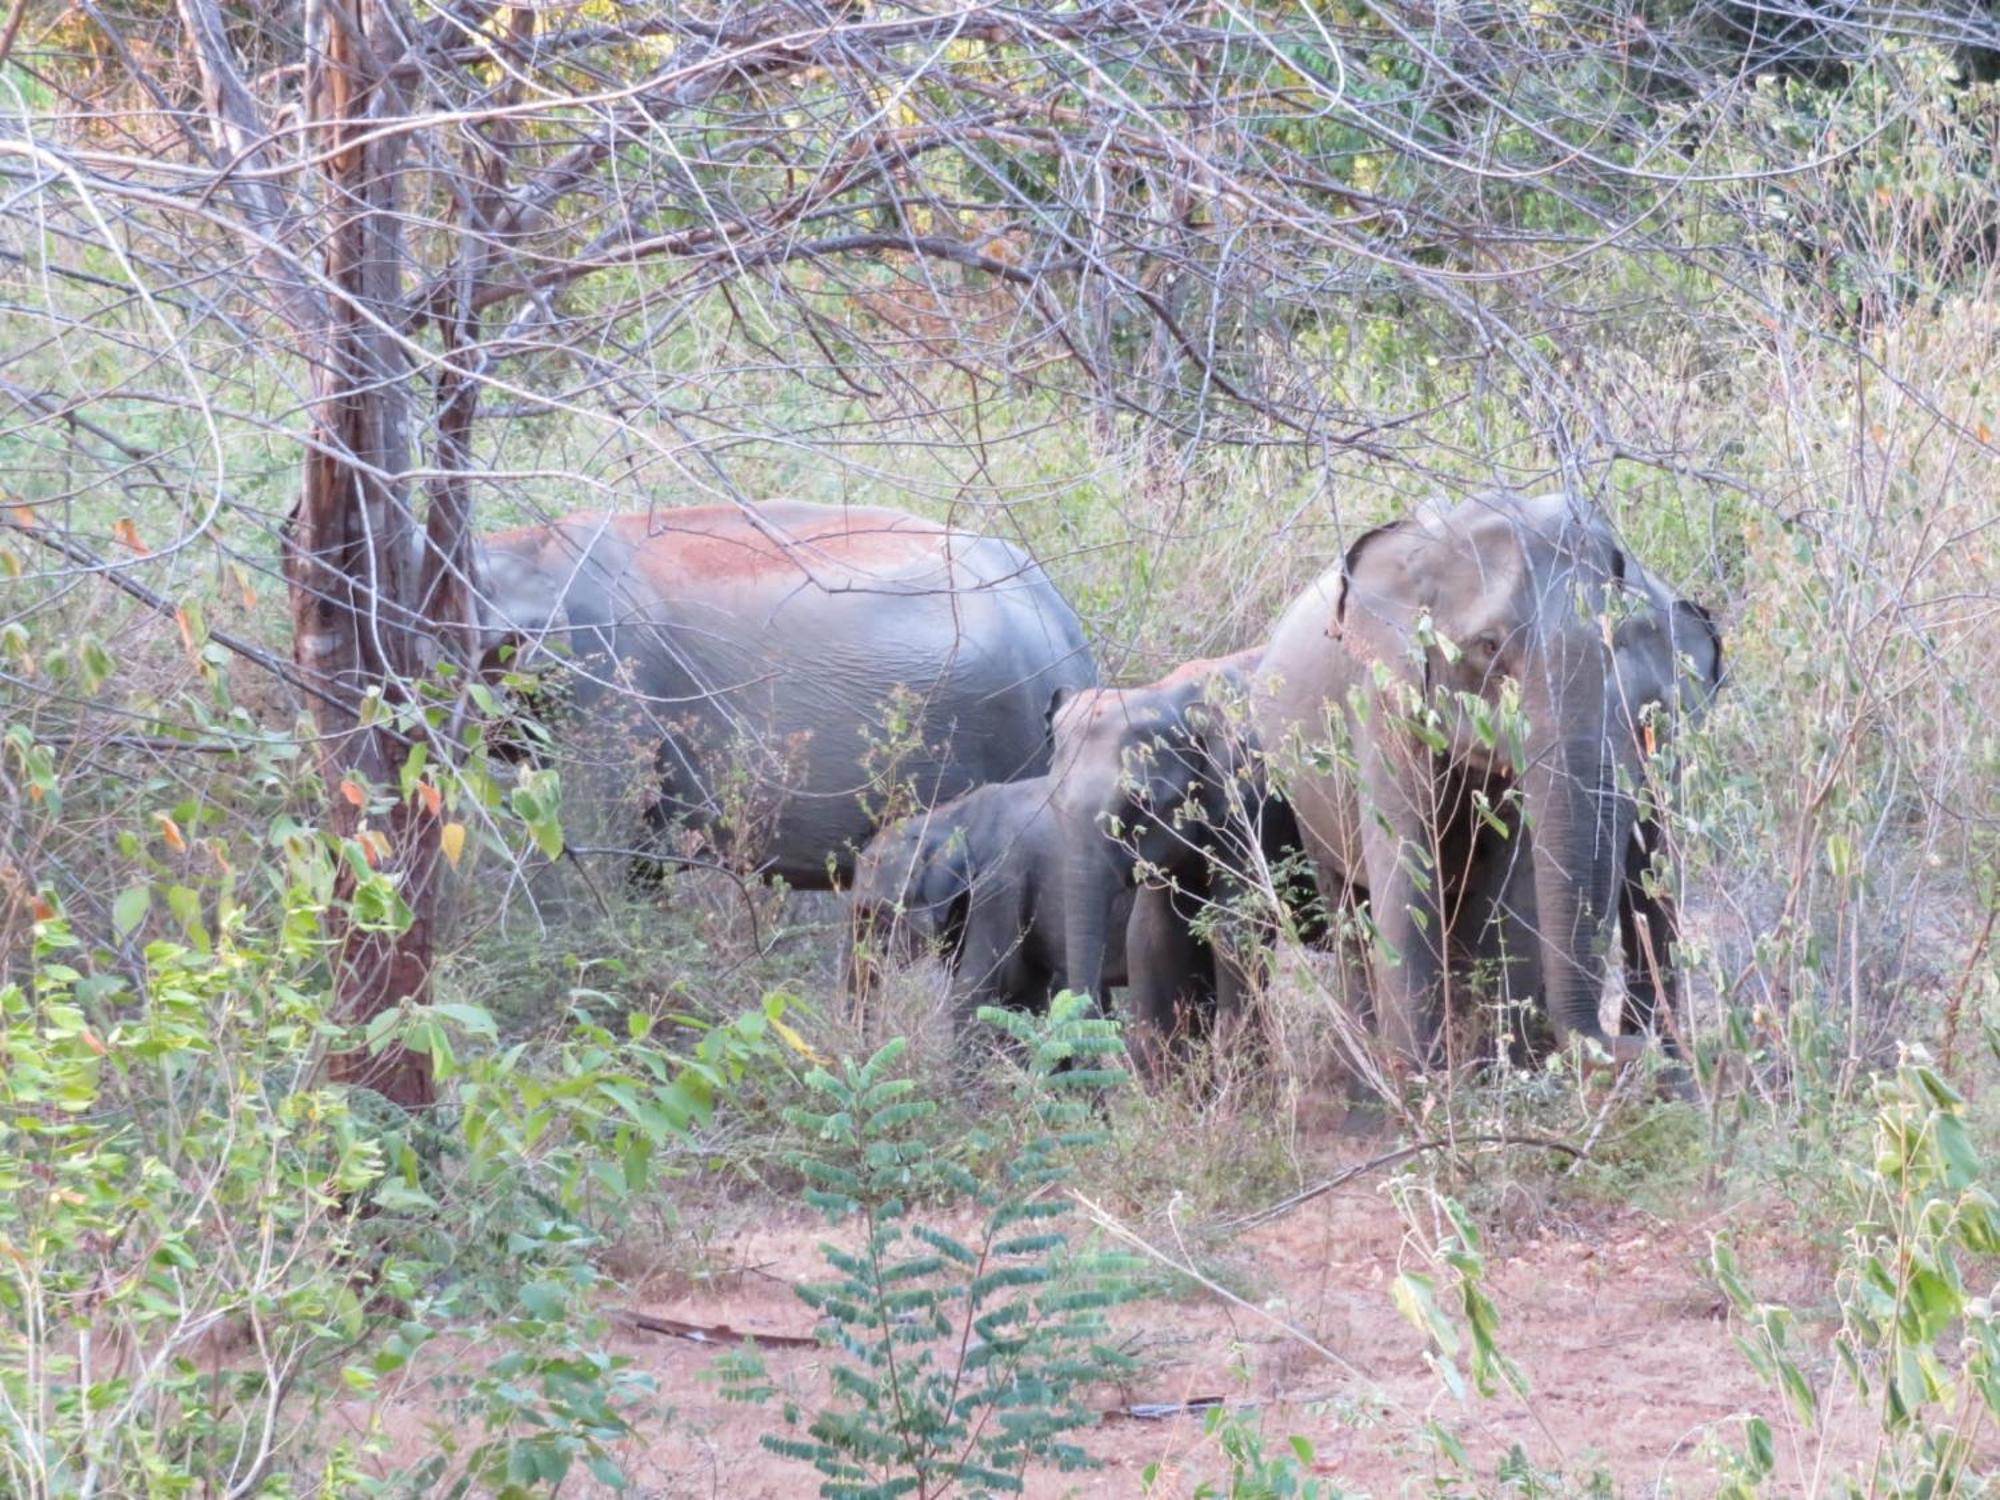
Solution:
M956 1020L1124 986L1158 1076L1190 1022L1244 1024L1254 954L1218 912L1276 896L1304 936L1368 936L1414 1070L1466 1060L1476 984L1556 1044L1676 1048L1662 750L1722 644L1576 496L1376 528L1262 646L1138 688L1098 686L1022 548L892 510L574 516L476 566L486 660L560 658L582 740L636 728L652 852L764 808L738 858L850 892L864 992L924 950Z

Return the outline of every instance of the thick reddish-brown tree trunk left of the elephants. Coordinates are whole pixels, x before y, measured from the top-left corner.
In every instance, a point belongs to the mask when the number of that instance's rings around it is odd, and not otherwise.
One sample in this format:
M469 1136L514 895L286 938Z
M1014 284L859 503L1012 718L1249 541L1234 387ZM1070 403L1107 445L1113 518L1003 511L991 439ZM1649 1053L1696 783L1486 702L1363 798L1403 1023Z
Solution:
M410 920L360 926L356 874L342 860L330 922L336 1012L366 1024L430 992L438 900L436 800L402 796L408 740L394 708L422 670L416 630L422 578L408 494L408 358L388 330L404 326L402 234L396 190L400 138L362 142L370 116L400 112L386 62L398 38L376 0L324 0L308 38L308 110L324 158L328 306L312 340L312 446L304 488L284 534L294 656L328 688L314 704L330 828L390 876ZM370 690L380 712L364 724ZM400 930L398 930L400 928ZM402 1106L432 1100L428 1056L388 1048L334 1058L332 1076L366 1084Z

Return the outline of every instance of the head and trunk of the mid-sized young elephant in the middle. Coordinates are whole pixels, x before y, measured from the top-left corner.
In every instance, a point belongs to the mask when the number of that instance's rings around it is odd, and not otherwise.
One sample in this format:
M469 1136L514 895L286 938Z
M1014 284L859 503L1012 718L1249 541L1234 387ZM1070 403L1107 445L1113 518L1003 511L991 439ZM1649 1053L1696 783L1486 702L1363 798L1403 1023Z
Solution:
M1144 688L1086 688L1054 704L1064 954L1078 994L1104 996L1112 914L1134 878L1208 858L1240 758L1212 686L1252 660L1188 662Z

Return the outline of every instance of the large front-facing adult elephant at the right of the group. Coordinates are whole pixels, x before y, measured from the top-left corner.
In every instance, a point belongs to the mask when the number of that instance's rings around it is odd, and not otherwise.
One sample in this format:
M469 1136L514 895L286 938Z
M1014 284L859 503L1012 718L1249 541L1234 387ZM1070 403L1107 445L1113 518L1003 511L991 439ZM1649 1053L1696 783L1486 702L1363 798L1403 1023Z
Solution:
M1708 616L1568 494L1376 528L1292 602L1252 672L1252 720L1322 884L1368 900L1378 1018L1408 1064L1446 1060L1456 960L1510 926L1556 1042L1634 1052L1598 1018L1602 940L1624 904L1628 968L1656 944L1628 982L1662 988L1646 752L1714 686L1720 652Z

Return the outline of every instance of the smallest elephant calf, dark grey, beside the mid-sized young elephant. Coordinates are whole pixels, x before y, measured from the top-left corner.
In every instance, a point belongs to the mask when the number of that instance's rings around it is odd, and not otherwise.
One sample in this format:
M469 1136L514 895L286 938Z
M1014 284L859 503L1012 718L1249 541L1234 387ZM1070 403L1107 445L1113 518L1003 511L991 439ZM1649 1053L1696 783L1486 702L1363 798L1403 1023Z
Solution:
M994 782L890 824L854 866L852 984L870 1000L882 960L936 952L958 1036L980 1006L1040 1010L1066 982L1062 858L1050 782ZM1112 924L1124 934L1130 912ZM1106 978L1124 982L1124 944Z

